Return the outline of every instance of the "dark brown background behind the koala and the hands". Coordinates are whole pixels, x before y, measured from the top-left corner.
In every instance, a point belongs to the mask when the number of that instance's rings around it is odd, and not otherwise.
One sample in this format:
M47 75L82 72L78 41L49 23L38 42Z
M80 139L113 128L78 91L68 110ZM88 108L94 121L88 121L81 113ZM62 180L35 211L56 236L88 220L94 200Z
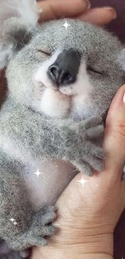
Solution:
M59 0L60 1L60 0ZM107 28L115 32L120 40L125 43L125 0L91 0L92 7L113 6L117 11L117 19ZM0 102L3 99L5 86L4 80L0 78ZM125 212L121 216L114 231L114 259L125 258Z

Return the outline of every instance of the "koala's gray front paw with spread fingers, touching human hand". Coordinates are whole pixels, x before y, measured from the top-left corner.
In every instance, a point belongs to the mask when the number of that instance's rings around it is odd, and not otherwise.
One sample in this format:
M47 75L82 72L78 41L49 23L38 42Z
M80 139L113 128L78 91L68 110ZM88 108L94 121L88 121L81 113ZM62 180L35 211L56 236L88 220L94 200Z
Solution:
M104 132L104 125L100 116L71 124L67 132L67 146L65 152L79 171L88 175L93 169L103 170L105 152L97 145L96 138ZM72 140L71 140L72 138Z

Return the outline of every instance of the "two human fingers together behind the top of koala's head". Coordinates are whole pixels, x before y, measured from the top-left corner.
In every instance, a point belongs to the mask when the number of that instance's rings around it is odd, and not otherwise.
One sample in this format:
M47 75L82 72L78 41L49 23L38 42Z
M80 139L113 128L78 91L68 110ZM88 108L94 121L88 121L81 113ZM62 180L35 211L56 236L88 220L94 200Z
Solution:
M112 7L90 9L88 0L46 0L38 2L38 5L42 9L40 21L43 22L62 17L76 17L89 23L104 25L116 18Z

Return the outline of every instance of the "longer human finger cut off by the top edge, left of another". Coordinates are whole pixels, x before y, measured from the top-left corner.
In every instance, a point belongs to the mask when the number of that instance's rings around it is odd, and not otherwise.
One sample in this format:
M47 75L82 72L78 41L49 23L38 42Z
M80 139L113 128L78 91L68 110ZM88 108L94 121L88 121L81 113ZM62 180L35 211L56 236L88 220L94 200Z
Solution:
M38 2L38 5L42 9L39 18L40 22L64 17L74 17L90 8L88 0L46 0Z

